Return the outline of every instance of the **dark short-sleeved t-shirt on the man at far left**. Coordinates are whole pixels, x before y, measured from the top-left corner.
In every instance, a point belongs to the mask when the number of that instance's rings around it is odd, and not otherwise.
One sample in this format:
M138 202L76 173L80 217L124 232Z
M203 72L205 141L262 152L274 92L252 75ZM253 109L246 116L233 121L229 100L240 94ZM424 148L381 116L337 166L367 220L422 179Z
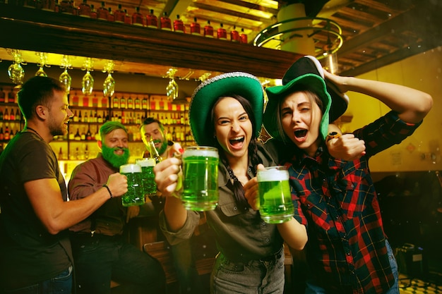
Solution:
M0 155L0 287L32 285L71 264L67 231L48 233L25 193L24 183L42 178L56 178L67 200L52 148L34 133L18 133Z

